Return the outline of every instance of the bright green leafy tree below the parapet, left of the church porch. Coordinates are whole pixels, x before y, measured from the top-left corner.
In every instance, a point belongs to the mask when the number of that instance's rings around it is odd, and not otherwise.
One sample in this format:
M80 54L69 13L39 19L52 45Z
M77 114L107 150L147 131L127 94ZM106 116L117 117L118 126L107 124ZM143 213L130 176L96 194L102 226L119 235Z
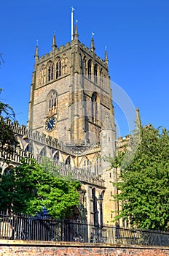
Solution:
M66 218L79 205L79 181L66 181L43 170L34 159L0 177L0 208L36 215L47 208L50 216Z

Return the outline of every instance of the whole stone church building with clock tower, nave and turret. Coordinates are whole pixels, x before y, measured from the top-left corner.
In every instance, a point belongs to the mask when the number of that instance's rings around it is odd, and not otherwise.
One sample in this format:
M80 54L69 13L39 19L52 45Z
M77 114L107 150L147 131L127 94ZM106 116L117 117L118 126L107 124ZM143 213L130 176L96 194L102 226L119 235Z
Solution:
M117 146L106 50L103 60L93 38L90 48L79 41L75 26L71 42L58 48L54 35L50 53L39 56L36 46L34 58L28 127L7 121L20 143L12 161L49 157L60 174L81 182L87 222L111 222L118 211L111 201L117 172L106 157L113 157Z

